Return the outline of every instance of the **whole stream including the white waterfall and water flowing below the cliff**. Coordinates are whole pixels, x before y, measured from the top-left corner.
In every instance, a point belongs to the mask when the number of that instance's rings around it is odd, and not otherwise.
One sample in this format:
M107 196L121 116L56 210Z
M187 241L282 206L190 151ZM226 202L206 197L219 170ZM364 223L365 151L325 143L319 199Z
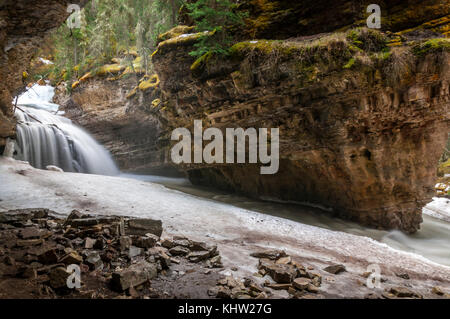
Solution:
M18 100L16 116L16 158L30 162L37 168L55 165L64 171L118 175L119 171L108 151L99 145L83 129L61 116L58 105L51 103L54 89L51 86L34 85ZM295 203L254 200L193 186L184 178L151 175L121 174L120 176L144 182L162 184L206 200L277 216L295 222L313 225L333 231L366 236L393 248L422 255L436 263L450 266L450 223L424 214L421 230L414 235L399 231L382 231L367 228L353 222L331 217L326 212ZM450 216L450 203L440 207ZM427 212L426 208L424 212Z

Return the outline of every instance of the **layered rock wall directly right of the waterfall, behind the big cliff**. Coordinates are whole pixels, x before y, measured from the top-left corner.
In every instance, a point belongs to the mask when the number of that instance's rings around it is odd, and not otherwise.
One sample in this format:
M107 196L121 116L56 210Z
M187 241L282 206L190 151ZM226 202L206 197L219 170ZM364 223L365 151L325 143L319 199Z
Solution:
M122 170L148 171L164 168L165 153L159 145L161 123L151 113L152 94L127 98L136 79L90 79L67 96L59 89L56 103L66 116L81 125L108 149Z

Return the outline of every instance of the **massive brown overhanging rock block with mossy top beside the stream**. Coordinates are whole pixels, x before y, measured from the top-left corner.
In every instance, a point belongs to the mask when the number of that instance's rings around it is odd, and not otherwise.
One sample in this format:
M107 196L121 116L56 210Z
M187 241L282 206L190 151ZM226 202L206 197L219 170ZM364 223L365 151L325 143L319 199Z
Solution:
M195 35L161 42L153 62L172 128L280 128L277 174L186 165L191 181L415 232L449 131L449 42L395 41L365 30L249 41L197 61Z

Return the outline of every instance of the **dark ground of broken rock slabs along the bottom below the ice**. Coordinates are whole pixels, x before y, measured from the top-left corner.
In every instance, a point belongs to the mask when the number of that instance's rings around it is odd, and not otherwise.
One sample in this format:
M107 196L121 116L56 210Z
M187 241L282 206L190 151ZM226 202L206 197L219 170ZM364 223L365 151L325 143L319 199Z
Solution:
M48 209L0 214L0 298L323 298L322 275L284 251L252 253L258 272L245 278L219 273L217 246L174 236L161 238L152 219L92 216L74 210L67 218ZM70 268L81 270L80 287ZM232 267L234 269L235 267ZM344 265L323 269L330 276ZM331 274L331 275L330 275ZM366 285L361 275L360 285ZM407 280L408 274L398 274ZM181 279L181 280L180 280ZM339 280L337 278L337 280ZM73 287L72 287L73 288ZM440 287L435 297L450 298ZM405 286L365 298L422 298Z

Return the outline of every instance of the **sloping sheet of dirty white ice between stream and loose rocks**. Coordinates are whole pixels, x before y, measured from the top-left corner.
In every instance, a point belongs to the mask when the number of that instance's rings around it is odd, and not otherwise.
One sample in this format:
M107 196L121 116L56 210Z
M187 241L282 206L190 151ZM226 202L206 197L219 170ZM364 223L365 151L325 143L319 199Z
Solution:
M256 272L257 261L250 253L267 247L285 249L318 269L330 262L345 264L346 273L324 274L323 288L329 295L363 297L373 292L361 285L365 279L360 276L370 264L381 266L382 277L387 280L381 289L404 284L405 280L396 276L402 273L409 275L407 283L424 296L431 296L436 285L450 288L450 267L418 255L370 238L263 215L157 184L37 170L6 158L0 159L0 180L0 209L44 207L63 214L79 209L91 214L161 219L169 235L216 242L224 265L239 265L236 274L242 276Z

